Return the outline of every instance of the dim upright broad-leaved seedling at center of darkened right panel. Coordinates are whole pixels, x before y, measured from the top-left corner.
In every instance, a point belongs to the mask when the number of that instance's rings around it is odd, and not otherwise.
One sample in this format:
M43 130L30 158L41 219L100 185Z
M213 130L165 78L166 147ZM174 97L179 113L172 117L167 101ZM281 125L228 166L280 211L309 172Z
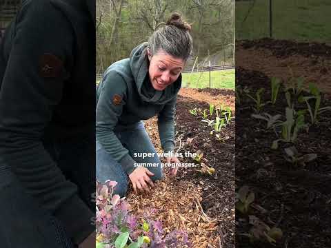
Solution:
M272 149L278 148L279 141L294 143L297 140L299 130L307 126L305 124L305 117L303 116L303 114L300 115L297 114L297 118L294 118L294 113L295 112L293 109L286 107L285 109L286 121L282 123L282 130L281 130L282 138L272 142L272 146L271 146Z

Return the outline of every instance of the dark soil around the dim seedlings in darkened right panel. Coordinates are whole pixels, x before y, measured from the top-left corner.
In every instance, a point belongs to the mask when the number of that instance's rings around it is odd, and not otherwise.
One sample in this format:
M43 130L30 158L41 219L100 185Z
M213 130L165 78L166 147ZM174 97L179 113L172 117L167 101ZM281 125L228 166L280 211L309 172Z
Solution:
M272 46L264 45L264 48ZM305 56L299 48L296 52ZM268 54L279 48L273 49ZM263 102L270 101L270 76L259 70L237 67L237 85L248 87L252 94L264 87ZM328 93L323 94L322 99L321 107L331 105ZM255 200L249 214L269 227L281 228L283 238L276 245L251 243L245 236L252 228L249 216L236 211L236 247L331 247L331 112L325 112L308 130L301 130L295 143L280 143L279 149L274 150L272 141L279 136L274 130L265 130L265 121L251 117L255 114L253 106L247 96L242 96L241 103L236 105L236 187L250 187ZM267 104L261 112L282 114L285 121L286 106L284 92L280 90L277 104ZM304 108L305 105L297 103L296 110ZM309 116L305 116L305 122L309 122ZM305 165L285 161L284 148L292 145L301 155L317 154L317 159Z

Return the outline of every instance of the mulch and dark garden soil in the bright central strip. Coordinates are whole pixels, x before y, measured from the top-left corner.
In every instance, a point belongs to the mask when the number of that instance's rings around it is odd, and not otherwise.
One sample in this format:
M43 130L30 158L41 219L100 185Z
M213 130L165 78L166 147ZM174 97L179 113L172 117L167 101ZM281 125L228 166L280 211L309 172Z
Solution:
M234 110L234 92L217 89L181 89L176 106L176 147L179 153L203 152L202 161L215 169L214 174L201 174L199 163L190 157L179 158L181 163L195 163L197 167L180 168L175 178L167 178L157 183L151 196L137 198L129 194L128 201L134 211L140 208L157 206L161 209L155 218L163 220L165 229L174 227L185 229L193 247L219 248L234 247L234 114L227 127L219 132L226 141L210 135L211 127L199 116L189 113L194 107L208 109L209 104L223 104ZM214 116L212 116L214 118ZM161 152L157 118L145 122L152 142ZM192 140L190 140L192 138ZM181 145L179 147L179 145ZM161 193L160 193L161 192ZM194 196L196 195L196 196ZM194 196L194 197L192 197ZM197 202L194 198L199 198ZM137 203L137 204L136 204ZM196 211L201 209L199 213ZM170 209L170 210L169 210ZM194 210L195 209L195 210Z

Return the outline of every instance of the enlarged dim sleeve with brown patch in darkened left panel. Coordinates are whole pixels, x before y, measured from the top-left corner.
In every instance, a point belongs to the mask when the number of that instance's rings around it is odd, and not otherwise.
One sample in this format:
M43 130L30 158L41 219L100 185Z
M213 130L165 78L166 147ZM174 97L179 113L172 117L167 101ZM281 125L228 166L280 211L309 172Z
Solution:
M94 214L41 142L61 101L73 48L73 30L59 10L49 1L23 1L0 91L0 163L79 243L94 230Z

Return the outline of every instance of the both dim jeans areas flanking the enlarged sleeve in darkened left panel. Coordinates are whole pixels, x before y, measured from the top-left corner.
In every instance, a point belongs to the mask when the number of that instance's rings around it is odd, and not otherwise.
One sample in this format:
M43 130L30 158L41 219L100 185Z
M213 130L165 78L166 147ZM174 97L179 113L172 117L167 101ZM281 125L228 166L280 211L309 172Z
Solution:
M79 188L79 196L95 211L95 138L44 141L43 145L63 174ZM42 209L0 162L0 247L73 248L63 223Z

